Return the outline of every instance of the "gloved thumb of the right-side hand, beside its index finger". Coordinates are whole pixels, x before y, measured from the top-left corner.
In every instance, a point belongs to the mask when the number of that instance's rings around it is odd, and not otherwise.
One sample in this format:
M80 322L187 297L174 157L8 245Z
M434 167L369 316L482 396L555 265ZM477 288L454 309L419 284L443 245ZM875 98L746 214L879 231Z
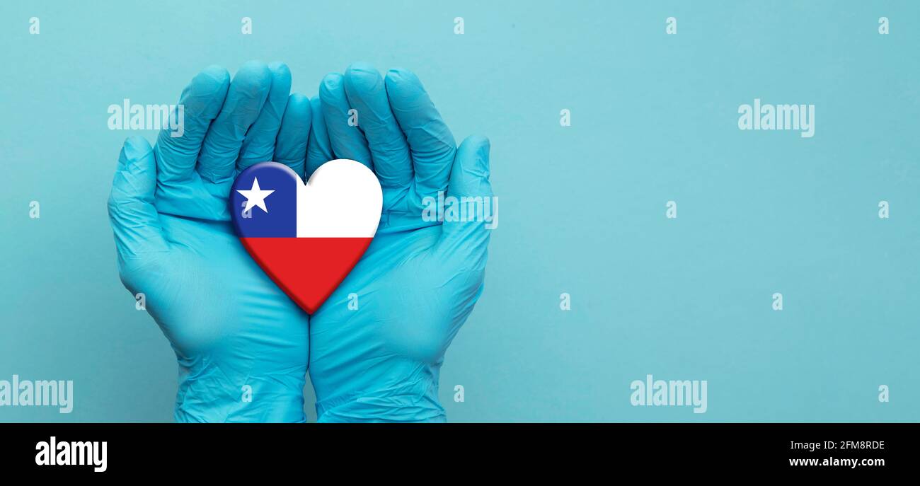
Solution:
M489 182L489 139L477 135L466 137L457 149L451 168L438 251L459 254L474 259L474 265L485 266L490 233L486 219L498 214L496 204ZM450 212L452 206L453 213Z

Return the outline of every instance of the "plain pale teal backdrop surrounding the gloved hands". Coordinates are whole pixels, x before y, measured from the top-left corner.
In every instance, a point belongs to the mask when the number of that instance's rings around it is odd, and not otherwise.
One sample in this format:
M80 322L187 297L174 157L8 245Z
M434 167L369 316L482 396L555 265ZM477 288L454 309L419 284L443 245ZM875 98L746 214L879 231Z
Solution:
M920 419L920 3L4 2L0 46L0 379L75 381L71 414L2 422L172 420L175 357L116 271L132 133L106 110L249 59L308 96L353 61L408 67L458 141L491 139L500 225L450 421ZM814 137L740 131L753 98L815 104ZM707 413L632 407L647 374L707 380Z

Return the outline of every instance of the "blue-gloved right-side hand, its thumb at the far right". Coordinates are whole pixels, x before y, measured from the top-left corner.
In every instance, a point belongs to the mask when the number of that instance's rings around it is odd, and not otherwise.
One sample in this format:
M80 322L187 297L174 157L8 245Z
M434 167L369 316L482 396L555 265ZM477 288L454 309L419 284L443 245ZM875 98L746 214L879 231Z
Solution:
M472 136L457 148L405 70L384 79L352 64L326 76L313 109L307 172L351 158L373 168L384 191L373 243L310 318L318 420L442 422L439 371L482 293L489 229L484 218L431 221L425 198L489 198L489 141Z

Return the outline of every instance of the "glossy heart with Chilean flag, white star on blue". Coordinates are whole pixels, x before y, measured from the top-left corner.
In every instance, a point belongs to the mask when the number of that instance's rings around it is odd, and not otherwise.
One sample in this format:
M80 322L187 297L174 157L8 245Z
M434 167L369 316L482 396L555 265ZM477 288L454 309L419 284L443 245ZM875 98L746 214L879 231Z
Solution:
M310 314L374 239L383 195L370 168L331 160L307 180L262 162L240 172L230 196L236 235L259 266Z

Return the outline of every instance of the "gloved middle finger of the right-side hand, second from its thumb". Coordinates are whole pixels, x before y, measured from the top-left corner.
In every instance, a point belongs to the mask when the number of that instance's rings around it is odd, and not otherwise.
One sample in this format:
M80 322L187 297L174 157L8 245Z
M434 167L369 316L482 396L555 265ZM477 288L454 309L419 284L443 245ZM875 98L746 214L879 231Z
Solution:
M386 100L384 79L374 66L355 63L345 72L345 94L358 111L358 126L371 151L374 172L384 188L405 188L412 181L408 145Z

